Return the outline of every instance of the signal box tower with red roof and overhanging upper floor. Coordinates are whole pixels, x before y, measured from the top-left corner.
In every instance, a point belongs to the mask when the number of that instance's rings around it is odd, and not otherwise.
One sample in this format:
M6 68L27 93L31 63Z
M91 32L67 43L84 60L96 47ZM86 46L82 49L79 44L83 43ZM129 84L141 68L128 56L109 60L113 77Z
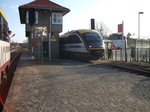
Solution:
M29 50L37 58L59 58L59 33L62 32L63 16L69 11L49 0L35 0L19 6Z

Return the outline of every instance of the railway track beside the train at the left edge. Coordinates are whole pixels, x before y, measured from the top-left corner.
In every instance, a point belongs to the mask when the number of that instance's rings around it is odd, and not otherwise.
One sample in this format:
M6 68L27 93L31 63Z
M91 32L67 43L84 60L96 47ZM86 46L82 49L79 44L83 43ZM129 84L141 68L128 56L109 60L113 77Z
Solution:
M5 100L7 98L7 94L14 76L14 72L17 68L17 64L22 52L23 52L22 49L18 49L11 52L11 63L7 71L7 78L0 85L0 112L2 112L3 109L6 112L8 112L7 108L5 107Z

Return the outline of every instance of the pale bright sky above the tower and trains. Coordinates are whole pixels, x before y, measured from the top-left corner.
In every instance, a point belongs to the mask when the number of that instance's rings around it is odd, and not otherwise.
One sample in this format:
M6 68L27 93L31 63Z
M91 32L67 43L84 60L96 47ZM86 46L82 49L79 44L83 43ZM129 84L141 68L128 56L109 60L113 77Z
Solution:
M33 0L0 0L10 30L15 33L12 41L23 42L25 25L20 23L19 5ZM117 33L117 25L124 21L124 35L128 32L138 34L138 12L140 14L141 38L150 38L150 1L149 0L51 0L71 11L63 17L63 32L76 29L89 29L90 19L103 22L111 31Z

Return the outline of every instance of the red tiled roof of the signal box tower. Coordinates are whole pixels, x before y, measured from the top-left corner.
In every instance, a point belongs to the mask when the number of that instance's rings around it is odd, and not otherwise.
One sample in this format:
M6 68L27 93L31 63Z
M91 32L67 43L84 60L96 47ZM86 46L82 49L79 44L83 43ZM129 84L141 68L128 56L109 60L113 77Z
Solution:
M69 12L68 8L60 6L49 0L34 0L30 3L19 6L19 8L57 9Z

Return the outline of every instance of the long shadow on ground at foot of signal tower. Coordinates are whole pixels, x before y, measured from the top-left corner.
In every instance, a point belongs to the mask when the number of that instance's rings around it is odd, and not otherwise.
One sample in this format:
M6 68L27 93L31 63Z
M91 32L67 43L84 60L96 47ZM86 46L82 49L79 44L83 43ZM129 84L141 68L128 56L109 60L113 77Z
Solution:
M28 51L24 51L19 60L18 68L29 67L29 66L43 66L43 65L59 65L59 66L78 66L78 65L86 65L91 62L88 61L79 61L79 60L71 60L71 59L53 59L49 61L48 58L36 59L32 54ZM23 65L23 66L21 66Z

